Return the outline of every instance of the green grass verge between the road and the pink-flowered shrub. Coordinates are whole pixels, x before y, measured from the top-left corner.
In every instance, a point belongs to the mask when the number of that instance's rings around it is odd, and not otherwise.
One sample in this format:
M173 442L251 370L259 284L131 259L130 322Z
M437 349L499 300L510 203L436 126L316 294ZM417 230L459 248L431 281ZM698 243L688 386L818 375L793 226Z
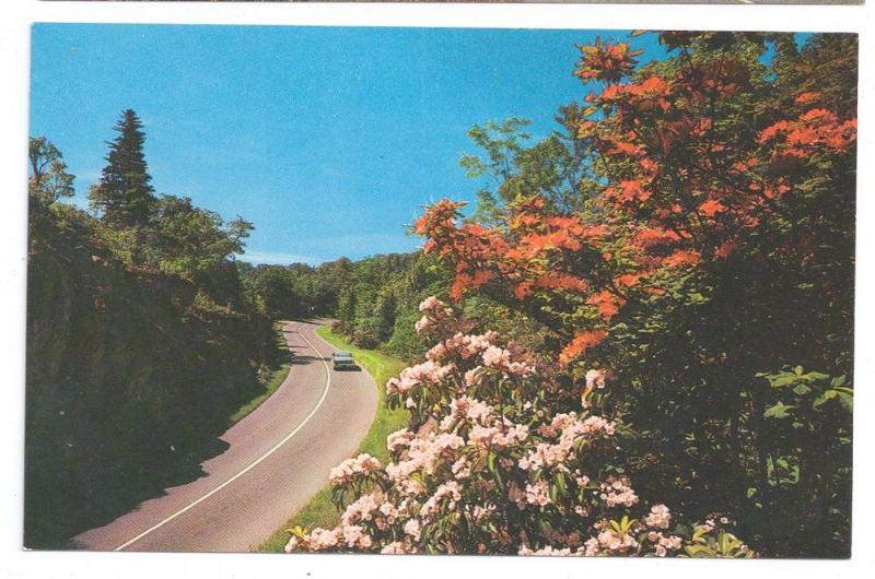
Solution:
M393 376L397 376L407 364L398 358L387 356L374 350L363 350L355 347L346 341L346 338L334 333L328 328L319 328L316 330L326 342L331 344L338 350L348 350L352 352L355 361L373 376L376 382L376 391L380 400L376 407L376 416L371 424L364 439L355 454L368 452L386 463L389 452L386 449L386 436L399 428L407 426L410 420L410 414L402 409L389 410L386 407L386 392L383 386L386 380ZM265 541L258 546L261 553L281 553L285 543L289 542L289 533L287 529L293 527L302 527L304 529L312 529L314 527L332 528L340 521L340 513L337 508L331 504L331 487L325 486L322 491L310 499L310 503L299 510L291 519L289 519L281 529L278 529L270 539Z

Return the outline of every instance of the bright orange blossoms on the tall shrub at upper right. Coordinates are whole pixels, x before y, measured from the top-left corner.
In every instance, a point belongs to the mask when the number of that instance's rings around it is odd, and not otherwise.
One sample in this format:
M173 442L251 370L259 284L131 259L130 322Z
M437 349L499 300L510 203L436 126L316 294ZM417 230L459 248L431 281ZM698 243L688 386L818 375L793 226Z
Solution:
M856 119L824 108L814 91L792 97L762 130L738 107L721 109L759 90L743 55L635 76L639 52L629 44L597 39L580 49L575 75L607 83L572 119L600 170L595 209L558 213L533 193L503 208L497 227L458 226L462 204L447 200L417 222L427 251L455 269L452 297L489 286L490 295L534 307L562 304L575 324L584 320L562 363L598 345L630 302L664 295L666 275L728 259L745 232L792 218L786 204L817 170L800 163L847 154L856 140ZM780 251L806 247L800 239Z

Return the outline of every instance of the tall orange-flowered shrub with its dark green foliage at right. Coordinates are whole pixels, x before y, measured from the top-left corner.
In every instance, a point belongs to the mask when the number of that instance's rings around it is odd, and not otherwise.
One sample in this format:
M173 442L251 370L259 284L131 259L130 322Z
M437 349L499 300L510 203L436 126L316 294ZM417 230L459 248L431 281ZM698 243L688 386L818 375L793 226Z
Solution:
M850 405L775 420L767 376L802 364L850 382L856 38L660 39L669 56L646 64L628 44L581 47L592 91L560 120L583 209L534 187L487 226L442 200L413 228L453 270L450 297L541 324L556 383L622 413L644 494L731 511L770 555L847 554ZM627 386L593 398L593 367ZM778 461L795 475L777 483Z

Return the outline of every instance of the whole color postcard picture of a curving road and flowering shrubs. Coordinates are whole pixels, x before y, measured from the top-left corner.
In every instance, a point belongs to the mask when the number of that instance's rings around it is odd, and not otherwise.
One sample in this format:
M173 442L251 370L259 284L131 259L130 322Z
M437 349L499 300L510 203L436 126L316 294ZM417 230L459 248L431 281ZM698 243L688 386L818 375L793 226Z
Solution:
M32 39L25 547L850 556L855 34Z

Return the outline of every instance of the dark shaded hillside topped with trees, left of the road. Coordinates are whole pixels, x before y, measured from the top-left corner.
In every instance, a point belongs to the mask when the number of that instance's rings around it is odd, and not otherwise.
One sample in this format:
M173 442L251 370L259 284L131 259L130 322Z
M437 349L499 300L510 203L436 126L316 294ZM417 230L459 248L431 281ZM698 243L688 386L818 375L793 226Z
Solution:
M270 321L247 309L225 225L149 186L126 111L92 190L100 217L63 203L73 177L31 141L25 544L62 545L220 451L229 415L262 391Z

